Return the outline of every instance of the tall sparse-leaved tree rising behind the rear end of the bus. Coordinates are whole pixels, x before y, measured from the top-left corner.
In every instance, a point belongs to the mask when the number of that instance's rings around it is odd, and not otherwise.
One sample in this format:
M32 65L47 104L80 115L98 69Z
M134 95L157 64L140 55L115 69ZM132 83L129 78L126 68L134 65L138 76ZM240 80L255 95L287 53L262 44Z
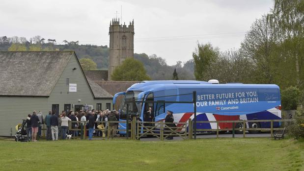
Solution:
M274 83L279 63L276 55L277 30L267 17L263 15L257 19L241 43L242 56L254 63L255 81L259 83Z

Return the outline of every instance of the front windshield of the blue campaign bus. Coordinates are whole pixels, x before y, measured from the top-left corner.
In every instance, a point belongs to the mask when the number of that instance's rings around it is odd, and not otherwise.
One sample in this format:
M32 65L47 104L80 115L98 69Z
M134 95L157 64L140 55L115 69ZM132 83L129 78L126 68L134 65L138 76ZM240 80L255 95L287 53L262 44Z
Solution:
M139 101L138 94L141 91L129 91L126 93L125 97L120 106L120 115L119 118L122 120L126 120L127 118L127 102L126 100L132 100L133 102L129 102L129 115L137 115L141 113L141 103L136 103L135 101Z

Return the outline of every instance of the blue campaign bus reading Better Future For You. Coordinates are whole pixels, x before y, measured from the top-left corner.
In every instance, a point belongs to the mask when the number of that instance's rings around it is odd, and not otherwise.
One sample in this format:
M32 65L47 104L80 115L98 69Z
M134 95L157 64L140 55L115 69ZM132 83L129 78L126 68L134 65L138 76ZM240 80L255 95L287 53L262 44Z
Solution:
M196 91L196 121L236 121L236 120L278 120L281 119L279 87L275 84L218 84L205 81L142 81L132 85L126 92L114 95L124 98L119 108L119 120L126 121L125 100L129 103L129 114L139 114L144 121L144 112L149 107L154 113L154 121L165 120L166 110L173 111L174 122L193 119L193 103L166 103L162 101L193 101ZM141 102L138 102L141 101ZM160 101L160 102L149 102ZM219 123L221 129L232 128L232 123ZM243 123L236 123L243 128ZM273 123L279 127L279 122ZM125 129L120 123L119 128ZM247 128L270 128L270 122L247 122ZM216 129L217 123L197 123L197 129ZM141 130L142 131L142 130ZM183 130L181 130L183 131ZM257 133L258 131L250 131ZM126 132L120 131L120 134Z

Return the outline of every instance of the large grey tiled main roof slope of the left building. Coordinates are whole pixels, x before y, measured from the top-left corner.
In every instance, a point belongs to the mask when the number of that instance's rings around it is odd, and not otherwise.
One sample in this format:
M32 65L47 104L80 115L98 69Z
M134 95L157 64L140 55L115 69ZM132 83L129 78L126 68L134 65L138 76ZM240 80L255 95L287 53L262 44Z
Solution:
M74 52L1 51L0 96L50 96Z

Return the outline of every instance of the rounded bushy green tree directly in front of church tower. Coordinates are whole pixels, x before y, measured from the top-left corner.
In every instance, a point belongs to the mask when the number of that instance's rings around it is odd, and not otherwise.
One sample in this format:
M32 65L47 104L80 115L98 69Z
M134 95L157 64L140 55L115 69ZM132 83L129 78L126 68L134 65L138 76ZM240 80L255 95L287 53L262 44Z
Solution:
M111 78L115 81L150 80L150 77L146 74L143 64L133 58L127 58L120 66L115 68Z

